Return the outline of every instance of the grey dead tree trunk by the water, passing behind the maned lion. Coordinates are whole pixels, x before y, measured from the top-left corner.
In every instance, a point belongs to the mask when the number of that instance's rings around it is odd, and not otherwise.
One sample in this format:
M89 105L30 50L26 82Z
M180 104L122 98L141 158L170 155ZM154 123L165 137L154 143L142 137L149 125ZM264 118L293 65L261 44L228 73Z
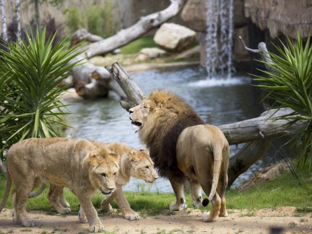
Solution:
M127 100L120 102L121 106L128 111L131 107L138 105L144 98L144 95L132 78L128 76L127 72L118 63L114 63L111 68L105 68L120 84L128 97ZM235 156L230 158L228 170L229 186L233 184L240 174L244 173L259 158L266 154L273 137L292 135L302 126L303 122L298 122L288 127L287 120L272 119L272 117L282 116L291 112L291 109L285 108L278 111L270 110L265 111L260 117L217 126L224 133L230 145L249 142Z

